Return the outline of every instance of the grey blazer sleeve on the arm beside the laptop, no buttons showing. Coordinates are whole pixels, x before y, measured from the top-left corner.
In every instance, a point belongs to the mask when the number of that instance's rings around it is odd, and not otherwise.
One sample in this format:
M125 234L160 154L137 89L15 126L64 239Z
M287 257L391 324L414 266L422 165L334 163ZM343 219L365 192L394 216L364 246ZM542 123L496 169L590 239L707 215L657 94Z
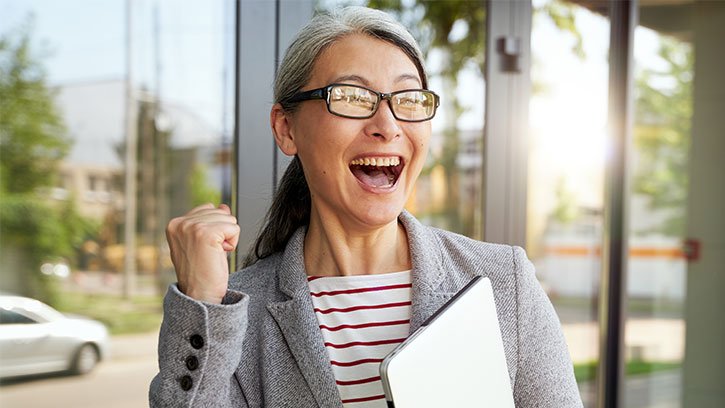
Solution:
M516 406L582 407L574 368L554 307L536 279L534 265L514 248L518 318Z

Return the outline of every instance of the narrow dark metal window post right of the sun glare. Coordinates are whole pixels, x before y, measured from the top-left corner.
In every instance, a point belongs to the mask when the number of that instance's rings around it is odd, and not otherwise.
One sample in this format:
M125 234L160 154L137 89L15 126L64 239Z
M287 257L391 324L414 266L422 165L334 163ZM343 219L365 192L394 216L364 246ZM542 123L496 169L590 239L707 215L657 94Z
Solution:
M633 132L634 30L637 0L610 0L608 151L599 289L598 406L623 405L629 153Z

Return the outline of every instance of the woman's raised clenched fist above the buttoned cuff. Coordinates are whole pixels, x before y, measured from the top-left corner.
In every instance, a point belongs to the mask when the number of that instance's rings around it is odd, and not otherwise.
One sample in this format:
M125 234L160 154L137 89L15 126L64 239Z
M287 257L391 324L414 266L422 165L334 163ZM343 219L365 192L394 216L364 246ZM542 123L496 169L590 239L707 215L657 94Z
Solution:
M239 242L239 225L229 207L207 203L172 219L166 239L179 290L197 300L221 303L229 283L226 253Z

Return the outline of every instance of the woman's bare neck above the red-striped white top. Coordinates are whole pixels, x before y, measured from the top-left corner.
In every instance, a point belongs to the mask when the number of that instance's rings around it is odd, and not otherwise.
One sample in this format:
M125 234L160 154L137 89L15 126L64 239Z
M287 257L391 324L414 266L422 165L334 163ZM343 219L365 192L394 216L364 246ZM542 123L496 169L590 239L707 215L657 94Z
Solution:
M305 236L305 269L314 276L372 275L411 269L408 237L397 219L382 226L322 216L314 206Z

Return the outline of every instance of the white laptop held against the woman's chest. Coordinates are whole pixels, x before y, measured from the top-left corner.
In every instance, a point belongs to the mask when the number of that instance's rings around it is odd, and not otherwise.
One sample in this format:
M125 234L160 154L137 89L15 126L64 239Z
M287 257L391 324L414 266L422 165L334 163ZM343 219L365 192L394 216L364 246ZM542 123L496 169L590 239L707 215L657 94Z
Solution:
M491 281L474 278L388 354L389 407L514 407Z

